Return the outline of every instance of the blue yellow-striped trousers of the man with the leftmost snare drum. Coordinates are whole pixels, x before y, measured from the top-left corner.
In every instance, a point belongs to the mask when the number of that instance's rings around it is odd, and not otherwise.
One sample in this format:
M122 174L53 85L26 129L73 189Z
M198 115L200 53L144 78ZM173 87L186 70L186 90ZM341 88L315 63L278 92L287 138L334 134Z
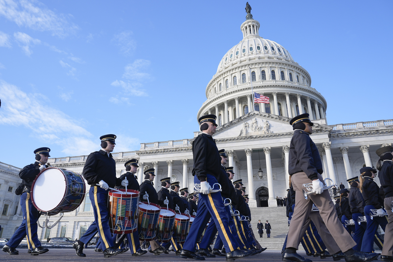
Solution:
M113 247L112 233L109 230L108 191L99 186L92 186L89 190L89 197L93 206L94 223L79 240L86 245L98 231L102 250Z

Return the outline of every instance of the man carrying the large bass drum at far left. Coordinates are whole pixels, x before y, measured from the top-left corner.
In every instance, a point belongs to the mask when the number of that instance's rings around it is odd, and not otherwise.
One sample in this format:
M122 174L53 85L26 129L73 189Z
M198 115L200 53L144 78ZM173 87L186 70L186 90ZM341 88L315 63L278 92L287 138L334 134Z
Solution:
M22 183L18 190L22 192L16 192L20 197L20 206L22 207L23 220L22 224L18 227L17 231L13 234L11 239L2 248L4 252L9 255L19 255L19 252L15 249L25 236L27 236L28 252L31 255L40 255L49 251L49 249L43 248L41 242L38 240L37 234L37 221L40 217L37 208L34 207L31 202L30 191L33 180L37 175L47 168L46 163L48 162L49 148L38 148L34 150L35 162L22 168L19 172L19 177L22 179Z

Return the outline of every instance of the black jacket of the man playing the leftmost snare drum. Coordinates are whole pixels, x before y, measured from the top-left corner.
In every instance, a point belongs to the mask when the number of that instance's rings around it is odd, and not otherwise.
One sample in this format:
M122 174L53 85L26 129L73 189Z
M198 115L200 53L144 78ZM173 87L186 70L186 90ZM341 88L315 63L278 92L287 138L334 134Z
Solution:
M83 177L91 186L98 185L99 181L105 181L109 187L121 186L121 180L116 178L116 163L112 154L103 151L90 153L83 167ZM98 185L99 186L99 185Z

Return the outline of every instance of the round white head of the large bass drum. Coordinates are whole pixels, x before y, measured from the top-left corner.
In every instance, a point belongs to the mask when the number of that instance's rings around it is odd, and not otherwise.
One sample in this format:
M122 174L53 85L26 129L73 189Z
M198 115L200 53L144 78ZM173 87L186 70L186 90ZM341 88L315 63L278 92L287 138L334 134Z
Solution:
M33 188L35 206L42 211L57 208L66 192L66 179L63 172L57 168L44 170L35 180Z

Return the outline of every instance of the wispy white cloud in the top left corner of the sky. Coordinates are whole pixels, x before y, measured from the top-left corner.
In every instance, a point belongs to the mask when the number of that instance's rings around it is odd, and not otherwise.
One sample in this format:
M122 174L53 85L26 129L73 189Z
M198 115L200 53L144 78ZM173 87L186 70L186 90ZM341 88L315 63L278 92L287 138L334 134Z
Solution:
M68 22L72 15L56 14L38 1L2 0L0 16L38 31L50 31L52 35L65 37L75 33L79 27Z

